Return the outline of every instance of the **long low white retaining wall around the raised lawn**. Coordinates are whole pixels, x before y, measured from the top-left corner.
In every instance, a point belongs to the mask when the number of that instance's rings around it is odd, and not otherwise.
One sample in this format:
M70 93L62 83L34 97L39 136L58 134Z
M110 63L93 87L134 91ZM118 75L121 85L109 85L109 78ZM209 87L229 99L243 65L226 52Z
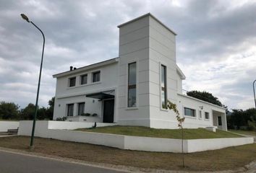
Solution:
M35 136L42 138L54 138L63 141L92 143L137 151L182 152L182 140L180 139L121 136L107 133L91 133L70 130L75 128L90 128L91 125L94 124L80 123L82 122L38 121L35 126ZM108 123L97 124L98 126L113 125ZM32 121L21 121L18 135L30 136L31 129ZM193 139L184 140L183 146L185 153L192 153L197 151L226 148L229 146L240 146L253 142L253 138Z

